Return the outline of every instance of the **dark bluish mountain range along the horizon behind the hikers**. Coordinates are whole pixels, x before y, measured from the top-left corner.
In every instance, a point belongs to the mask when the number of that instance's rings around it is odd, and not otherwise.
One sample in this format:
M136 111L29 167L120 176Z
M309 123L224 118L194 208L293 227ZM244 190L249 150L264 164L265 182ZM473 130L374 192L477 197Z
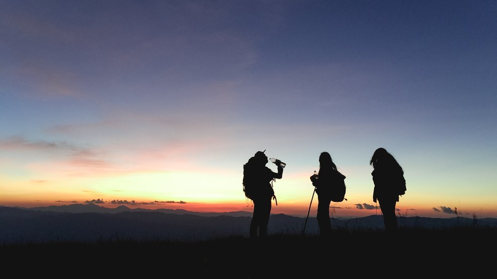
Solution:
M173 212L173 213L170 213ZM197 241L229 236L248 236L251 212L190 212L182 209L107 209L96 205L45 208L0 207L1 243L58 241L95 242L117 240ZM273 214L270 234L300 234L305 218ZM400 227L447 228L459 226L497 227L496 218L399 217ZM381 215L353 219L331 218L335 229L383 229ZM307 234L319 232L316 218L309 218Z

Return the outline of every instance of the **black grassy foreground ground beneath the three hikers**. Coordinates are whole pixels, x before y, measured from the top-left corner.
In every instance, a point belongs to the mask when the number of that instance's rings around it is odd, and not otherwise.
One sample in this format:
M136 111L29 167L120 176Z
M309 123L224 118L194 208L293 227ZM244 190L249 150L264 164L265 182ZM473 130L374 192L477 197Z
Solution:
M316 278L480 276L497 272L496 228L334 231L204 242L46 243L0 246L2 273L55 277Z

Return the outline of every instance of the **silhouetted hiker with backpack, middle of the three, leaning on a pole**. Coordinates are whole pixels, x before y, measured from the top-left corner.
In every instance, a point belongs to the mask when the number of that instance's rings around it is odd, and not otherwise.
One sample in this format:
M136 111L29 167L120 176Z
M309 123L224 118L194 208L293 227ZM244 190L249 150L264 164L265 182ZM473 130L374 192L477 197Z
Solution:
M319 156L319 173L311 176L312 184L318 193L318 225L321 235L326 236L331 233L330 203L331 187L338 179L345 179L345 176L336 170L336 165L328 152L322 152Z

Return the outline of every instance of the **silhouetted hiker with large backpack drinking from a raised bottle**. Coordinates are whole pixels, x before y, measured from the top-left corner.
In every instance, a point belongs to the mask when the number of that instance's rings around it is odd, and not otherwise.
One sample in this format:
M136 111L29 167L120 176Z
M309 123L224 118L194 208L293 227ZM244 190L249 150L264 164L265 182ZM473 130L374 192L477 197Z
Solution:
M259 237L266 236L267 223L271 213L271 198L276 199L270 182L283 176L280 160L275 162L278 166L278 173L266 167L267 162L267 156L264 152L257 151L244 165L244 191L247 198L253 201L253 215L250 222L250 238L252 239L257 237L257 229Z

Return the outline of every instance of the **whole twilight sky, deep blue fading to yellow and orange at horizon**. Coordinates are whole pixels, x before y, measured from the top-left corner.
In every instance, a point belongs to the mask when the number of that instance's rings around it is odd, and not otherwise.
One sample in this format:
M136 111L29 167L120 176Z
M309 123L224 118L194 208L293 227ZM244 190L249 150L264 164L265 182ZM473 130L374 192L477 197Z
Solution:
M0 205L251 210L243 165L266 149L287 164L273 213L307 214L328 151L347 177L331 215L380 214L369 160L384 147L405 171L399 214L497 217L496 13L0 0Z

